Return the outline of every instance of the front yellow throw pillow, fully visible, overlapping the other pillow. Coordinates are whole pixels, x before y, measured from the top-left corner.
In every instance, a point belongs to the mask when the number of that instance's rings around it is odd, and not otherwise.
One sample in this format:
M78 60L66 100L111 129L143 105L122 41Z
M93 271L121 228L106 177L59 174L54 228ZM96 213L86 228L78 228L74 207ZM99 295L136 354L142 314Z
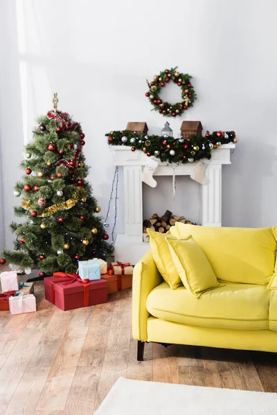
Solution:
M199 298L204 291L219 286L211 264L191 235L183 241L168 237L166 241L181 281L190 293Z

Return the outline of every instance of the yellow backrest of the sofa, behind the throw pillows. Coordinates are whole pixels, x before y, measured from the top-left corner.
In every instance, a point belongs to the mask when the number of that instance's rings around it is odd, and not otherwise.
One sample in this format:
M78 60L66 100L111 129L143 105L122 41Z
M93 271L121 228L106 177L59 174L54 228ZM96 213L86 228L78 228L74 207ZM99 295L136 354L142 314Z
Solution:
M277 228L213 228L177 222L170 232L179 239L192 235L217 279L265 285L274 274Z

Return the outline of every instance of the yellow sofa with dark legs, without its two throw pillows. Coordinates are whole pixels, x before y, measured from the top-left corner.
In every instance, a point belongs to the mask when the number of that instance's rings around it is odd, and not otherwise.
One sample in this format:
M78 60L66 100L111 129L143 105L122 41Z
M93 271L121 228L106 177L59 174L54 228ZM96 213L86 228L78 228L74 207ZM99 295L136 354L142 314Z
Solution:
M152 253L136 264L132 330L143 360L145 342L277 352L277 228L209 228L178 224L201 246L222 284L194 297L171 289Z

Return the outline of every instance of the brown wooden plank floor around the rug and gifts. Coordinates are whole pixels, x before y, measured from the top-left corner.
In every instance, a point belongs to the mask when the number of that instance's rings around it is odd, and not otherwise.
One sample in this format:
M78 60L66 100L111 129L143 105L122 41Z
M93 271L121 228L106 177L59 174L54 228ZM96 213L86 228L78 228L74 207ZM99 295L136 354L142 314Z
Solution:
M93 414L120 376L277 392L277 355L145 345L136 361L131 290L61 311L35 284L37 313L0 312L0 415Z

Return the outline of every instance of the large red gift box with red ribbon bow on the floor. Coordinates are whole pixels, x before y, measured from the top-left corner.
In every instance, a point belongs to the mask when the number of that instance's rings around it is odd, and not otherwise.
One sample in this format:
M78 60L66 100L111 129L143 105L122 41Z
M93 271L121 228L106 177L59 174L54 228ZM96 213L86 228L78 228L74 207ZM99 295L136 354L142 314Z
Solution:
M78 274L54 273L44 278L45 298L62 310L94 306L108 301L107 281L80 279Z

